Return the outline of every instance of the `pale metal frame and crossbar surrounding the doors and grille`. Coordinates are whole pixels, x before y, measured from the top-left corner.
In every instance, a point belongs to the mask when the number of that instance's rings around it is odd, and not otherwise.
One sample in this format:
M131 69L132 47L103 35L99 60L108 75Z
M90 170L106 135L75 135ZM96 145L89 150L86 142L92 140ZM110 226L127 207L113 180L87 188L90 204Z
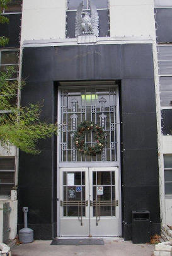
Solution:
M90 82L91 83L91 82ZM61 87L61 86L60 86ZM64 86L65 87L65 86ZM58 88L58 96L57 96L57 123L60 124L60 91ZM122 235L122 206L121 206L121 165L120 165L120 107L119 107L119 88L117 86L117 120L118 120L118 129L117 129L117 136L118 136L118 161L111 161L111 162L69 162L69 163L62 163L60 162L60 134L57 136L57 237L60 236L60 168L62 167L118 167L118 207L119 207L119 221L118 221L118 230L119 236ZM59 114L58 114L59 113ZM89 227L90 228L90 227Z

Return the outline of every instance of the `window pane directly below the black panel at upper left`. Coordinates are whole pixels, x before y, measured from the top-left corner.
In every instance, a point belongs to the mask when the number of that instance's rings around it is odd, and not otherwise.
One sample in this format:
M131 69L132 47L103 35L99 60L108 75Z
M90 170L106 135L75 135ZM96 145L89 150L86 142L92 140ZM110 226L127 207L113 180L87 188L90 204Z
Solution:
M18 50L6 50L1 52L1 64L18 64Z

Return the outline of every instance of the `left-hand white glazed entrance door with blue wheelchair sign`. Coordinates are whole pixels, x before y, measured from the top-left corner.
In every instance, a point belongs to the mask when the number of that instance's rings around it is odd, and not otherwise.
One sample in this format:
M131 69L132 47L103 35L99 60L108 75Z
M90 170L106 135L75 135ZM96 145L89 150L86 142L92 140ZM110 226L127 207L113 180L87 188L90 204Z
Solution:
M88 236L88 168L60 168L60 182L60 235Z

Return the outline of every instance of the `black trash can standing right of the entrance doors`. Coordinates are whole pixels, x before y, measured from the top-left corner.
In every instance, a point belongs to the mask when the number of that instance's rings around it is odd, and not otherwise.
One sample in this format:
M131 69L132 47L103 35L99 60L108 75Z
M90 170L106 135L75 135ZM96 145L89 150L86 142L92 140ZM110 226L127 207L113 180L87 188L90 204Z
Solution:
M150 212L149 211L132 211L132 242L149 243Z

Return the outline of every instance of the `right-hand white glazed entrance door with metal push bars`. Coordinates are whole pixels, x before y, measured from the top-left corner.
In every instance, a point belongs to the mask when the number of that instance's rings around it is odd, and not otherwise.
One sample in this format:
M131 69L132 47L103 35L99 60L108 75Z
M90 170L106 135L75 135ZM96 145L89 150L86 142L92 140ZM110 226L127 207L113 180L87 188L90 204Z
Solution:
M90 235L118 236L118 168L89 168Z

